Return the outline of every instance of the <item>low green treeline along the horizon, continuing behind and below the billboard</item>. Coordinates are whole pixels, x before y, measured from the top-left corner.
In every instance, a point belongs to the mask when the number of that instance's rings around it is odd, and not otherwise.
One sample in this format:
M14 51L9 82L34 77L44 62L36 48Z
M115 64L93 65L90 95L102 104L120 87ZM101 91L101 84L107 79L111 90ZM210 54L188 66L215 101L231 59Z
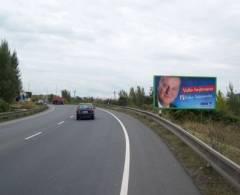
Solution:
M81 102L91 102L96 105L119 105L119 106L131 106L144 110L158 112L157 108L153 107L153 90L150 88L148 94L145 93L143 87L137 86L131 87L129 91L120 90L117 99L102 99L94 97L72 97L70 91L64 89L61 92L65 103L78 104ZM32 100L47 98L49 103L52 102L54 94L47 96L33 96ZM222 122L240 122L240 94L234 93L233 86L230 84L227 90L227 94L224 95L221 91L218 91L216 97L216 109L215 110L175 110L165 109L162 111L164 115L175 118L176 120L201 120L204 121L222 121Z

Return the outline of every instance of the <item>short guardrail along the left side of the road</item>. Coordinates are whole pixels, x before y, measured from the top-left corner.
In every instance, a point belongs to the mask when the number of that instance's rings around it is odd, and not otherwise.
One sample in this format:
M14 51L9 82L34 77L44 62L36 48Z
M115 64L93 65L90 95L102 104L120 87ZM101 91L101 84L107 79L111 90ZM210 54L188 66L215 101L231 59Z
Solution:
M5 121L5 120L9 120L9 119L15 119L15 118L23 117L23 116L28 116L28 115L35 114L35 113L41 112L43 110L46 110L47 108L48 108L47 106L43 106L43 107L37 108L37 109L17 110L17 111L13 111L13 112L3 112L3 113L0 113L0 121Z

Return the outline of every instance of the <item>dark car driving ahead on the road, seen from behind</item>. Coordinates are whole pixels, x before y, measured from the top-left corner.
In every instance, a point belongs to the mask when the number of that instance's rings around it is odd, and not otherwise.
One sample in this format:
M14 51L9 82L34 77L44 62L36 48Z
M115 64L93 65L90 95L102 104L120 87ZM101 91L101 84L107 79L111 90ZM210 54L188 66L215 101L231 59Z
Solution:
M95 118L95 107L90 103L81 103L77 107L76 119L94 119Z

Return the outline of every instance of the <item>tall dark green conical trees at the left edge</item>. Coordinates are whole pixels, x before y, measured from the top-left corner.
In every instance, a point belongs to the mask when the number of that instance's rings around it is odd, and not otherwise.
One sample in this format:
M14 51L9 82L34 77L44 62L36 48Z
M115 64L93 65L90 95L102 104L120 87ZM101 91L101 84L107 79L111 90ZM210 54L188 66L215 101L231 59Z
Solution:
M7 41L0 45L0 111L8 109L22 89L17 52L11 52Z

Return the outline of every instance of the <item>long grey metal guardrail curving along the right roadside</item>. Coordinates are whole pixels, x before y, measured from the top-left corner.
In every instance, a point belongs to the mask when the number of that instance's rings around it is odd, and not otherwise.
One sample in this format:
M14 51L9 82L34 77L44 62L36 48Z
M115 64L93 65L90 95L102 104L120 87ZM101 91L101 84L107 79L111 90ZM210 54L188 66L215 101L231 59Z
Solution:
M195 152L197 152L202 158L211 164L211 166L216 171L218 171L223 177L228 179L234 186L236 186L238 190L240 190L240 166L238 164L223 156L218 151L214 150L209 145L193 136L179 125L176 125L157 114L131 107L121 108L150 116L154 121L170 130L184 143L190 146Z

